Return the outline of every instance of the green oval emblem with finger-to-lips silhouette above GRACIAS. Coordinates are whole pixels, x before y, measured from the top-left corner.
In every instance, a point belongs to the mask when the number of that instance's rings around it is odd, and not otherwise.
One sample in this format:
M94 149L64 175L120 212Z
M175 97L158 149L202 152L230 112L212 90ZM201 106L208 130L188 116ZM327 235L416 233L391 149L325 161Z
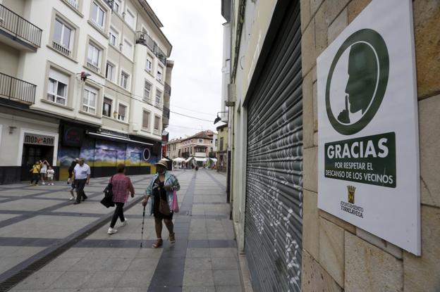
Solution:
M326 111L331 125L343 135L365 128L384 99L389 54L381 35L358 30L338 49L326 82Z

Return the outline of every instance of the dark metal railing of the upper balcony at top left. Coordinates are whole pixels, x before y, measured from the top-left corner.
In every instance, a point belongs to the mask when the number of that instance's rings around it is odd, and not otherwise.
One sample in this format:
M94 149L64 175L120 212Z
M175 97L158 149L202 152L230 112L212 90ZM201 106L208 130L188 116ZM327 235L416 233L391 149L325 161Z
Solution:
M41 44L42 30L1 4L0 27L33 46Z

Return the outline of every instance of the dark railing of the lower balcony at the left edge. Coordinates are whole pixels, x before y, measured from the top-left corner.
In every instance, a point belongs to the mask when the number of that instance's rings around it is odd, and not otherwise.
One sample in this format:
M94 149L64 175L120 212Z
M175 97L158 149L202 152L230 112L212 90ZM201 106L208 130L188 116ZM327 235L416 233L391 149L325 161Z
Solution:
M0 96L9 100L35 103L37 85L0 73Z

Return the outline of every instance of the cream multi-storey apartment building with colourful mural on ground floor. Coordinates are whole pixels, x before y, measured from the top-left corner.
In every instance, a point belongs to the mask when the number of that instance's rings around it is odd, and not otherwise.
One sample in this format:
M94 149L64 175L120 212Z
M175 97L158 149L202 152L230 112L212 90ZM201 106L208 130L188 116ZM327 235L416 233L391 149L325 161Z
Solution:
M154 171L168 125L171 43L145 0L0 3L0 184L45 158L60 179ZM164 118L164 113L166 118Z

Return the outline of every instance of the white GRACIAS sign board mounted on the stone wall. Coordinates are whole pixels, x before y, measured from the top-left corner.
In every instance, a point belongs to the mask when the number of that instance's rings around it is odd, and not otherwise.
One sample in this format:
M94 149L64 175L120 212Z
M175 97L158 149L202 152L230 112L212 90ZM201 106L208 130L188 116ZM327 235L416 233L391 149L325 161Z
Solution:
M420 255L412 1L373 0L317 58L318 207Z

